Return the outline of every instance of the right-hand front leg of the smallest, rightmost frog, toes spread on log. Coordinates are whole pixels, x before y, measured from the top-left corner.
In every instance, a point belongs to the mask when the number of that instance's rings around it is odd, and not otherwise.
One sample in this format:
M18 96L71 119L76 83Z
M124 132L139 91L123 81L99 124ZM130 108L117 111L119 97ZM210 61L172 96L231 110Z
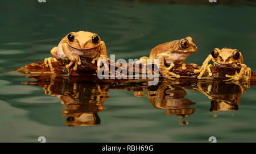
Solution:
M226 74L226 77L230 77L230 78L228 80L224 80L224 81L240 80L243 77L244 74L246 75L245 80L246 81L250 80L250 78L251 78L251 69L247 68L247 65L245 65L245 64L239 64L239 65L241 65L240 72L237 73L237 71L236 71L236 73L233 76L230 76L230 75Z

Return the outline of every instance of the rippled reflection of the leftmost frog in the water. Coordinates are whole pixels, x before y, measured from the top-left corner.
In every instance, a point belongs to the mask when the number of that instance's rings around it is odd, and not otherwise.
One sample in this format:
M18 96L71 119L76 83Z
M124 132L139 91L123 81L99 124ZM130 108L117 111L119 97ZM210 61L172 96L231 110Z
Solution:
M72 95L56 96L61 100L61 104L67 107L61 113L63 113L63 116L68 117L65 122L68 126L93 126L100 124L100 117L97 113L105 110L103 103L109 98L107 95L108 90L107 87L100 89L99 85L97 85L97 88L89 89L84 94L80 92L79 96L74 91Z

